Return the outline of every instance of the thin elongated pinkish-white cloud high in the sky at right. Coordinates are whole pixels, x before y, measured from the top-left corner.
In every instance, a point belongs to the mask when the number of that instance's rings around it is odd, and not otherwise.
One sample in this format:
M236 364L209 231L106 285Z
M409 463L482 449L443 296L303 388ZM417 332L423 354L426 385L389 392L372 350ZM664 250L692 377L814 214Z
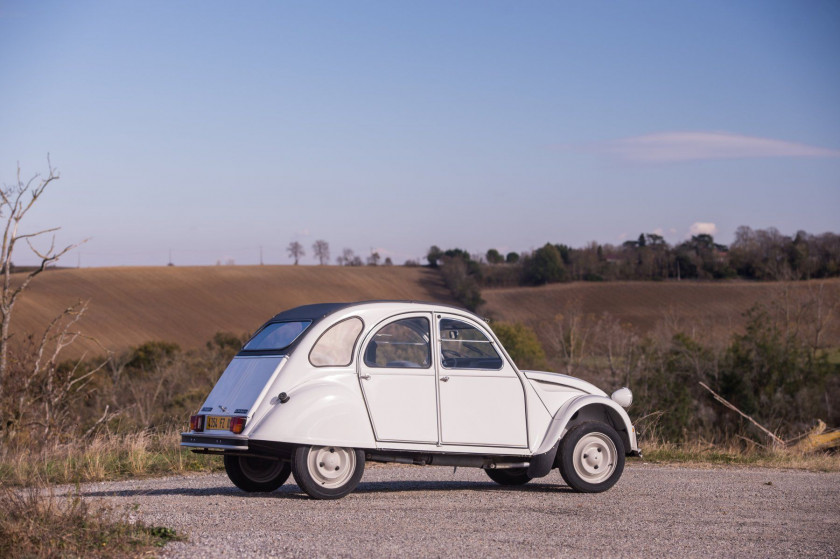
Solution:
M671 163L767 157L840 157L840 150L729 132L659 132L613 140L595 151L627 161Z

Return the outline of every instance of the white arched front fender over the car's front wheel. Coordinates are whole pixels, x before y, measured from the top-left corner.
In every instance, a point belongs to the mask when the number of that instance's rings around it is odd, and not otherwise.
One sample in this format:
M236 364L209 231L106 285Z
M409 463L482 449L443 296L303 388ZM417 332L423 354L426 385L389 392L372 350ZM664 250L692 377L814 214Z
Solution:
M578 416L575 417L575 414ZM550 451L571 427L586 420L603 421L612 425L624 440L625 452L639 452L636 430L624 408L604 396L587 394L569 400L557 410L536 454Z

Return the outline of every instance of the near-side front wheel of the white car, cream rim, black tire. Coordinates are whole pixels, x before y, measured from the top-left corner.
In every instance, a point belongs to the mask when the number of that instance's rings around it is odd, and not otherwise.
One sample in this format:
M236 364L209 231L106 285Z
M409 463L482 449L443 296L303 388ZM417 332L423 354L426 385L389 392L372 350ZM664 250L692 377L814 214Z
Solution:
M624 443L615 429L587 421L560 441L560 475L580 493L600 493L618 481L624 471Z

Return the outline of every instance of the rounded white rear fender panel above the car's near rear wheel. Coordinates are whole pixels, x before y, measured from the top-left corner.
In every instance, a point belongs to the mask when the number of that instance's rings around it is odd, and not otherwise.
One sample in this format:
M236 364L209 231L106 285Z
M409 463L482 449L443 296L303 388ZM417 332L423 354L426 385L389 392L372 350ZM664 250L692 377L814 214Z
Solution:
M333 374L288 391L289 400L271 401L271 409L248 433L249 438L308 445L375 448L358 376Z

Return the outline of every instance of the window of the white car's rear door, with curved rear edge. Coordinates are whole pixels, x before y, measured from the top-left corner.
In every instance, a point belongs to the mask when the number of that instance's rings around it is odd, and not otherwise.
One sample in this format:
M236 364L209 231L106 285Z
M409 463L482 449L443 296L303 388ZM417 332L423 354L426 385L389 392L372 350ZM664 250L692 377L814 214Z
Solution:
M365 365L389 369L427 369L432 364L429 321L403 318L386 324L365 348Z

